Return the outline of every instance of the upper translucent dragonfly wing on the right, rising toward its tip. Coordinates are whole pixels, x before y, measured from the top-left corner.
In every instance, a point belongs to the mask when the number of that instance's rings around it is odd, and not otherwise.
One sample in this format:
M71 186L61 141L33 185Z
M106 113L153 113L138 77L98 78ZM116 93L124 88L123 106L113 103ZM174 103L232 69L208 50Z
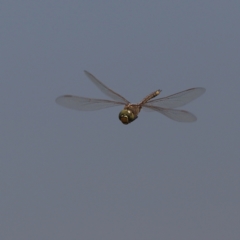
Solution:
M175 93L173 95L151 100L145 106L154 106L160 108L177 108L193 101L205 93L205 88L190 88L188 90Z

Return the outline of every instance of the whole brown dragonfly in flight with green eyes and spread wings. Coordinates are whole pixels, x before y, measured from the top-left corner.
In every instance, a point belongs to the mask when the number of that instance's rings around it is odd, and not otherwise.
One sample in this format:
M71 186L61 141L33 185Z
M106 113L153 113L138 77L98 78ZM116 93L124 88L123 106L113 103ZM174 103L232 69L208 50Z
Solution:
M112 89L104 85L102 82L100 82L90 72L84 71L84 73L102 93L104 93L106 96L110 97L114 101L105 99L86 98L73 95L63 95L56 99L56 103L63 107L78 111L94 111L124 105L124 108L123 110L120 111L118 118L125 125L136 120L141 109L159 112L177 122L194 122L197 120L197 118L192 113L175 108L186 105L187 103L200 97L206 91L205 88L196 87L172 94L167 97L152 100L153 98L160 94L161 90L159 89L147 95L139 103L130 103L126 98L121 96L119 93L113 91Z

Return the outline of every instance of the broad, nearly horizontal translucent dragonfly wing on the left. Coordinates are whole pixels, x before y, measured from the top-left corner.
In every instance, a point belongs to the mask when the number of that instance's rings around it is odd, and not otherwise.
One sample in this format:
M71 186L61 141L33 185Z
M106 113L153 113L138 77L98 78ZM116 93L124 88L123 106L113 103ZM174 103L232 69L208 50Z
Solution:
M114 102L114 101L102 100L102 99L84 98L84 97L78 97L78 96L72 96L72 95L60 96L56 99L56 103L61 105L62 107L75 109L79 111L94 111L94 110L100 110L103 108L124 105L124 103L121 103L121 102Z

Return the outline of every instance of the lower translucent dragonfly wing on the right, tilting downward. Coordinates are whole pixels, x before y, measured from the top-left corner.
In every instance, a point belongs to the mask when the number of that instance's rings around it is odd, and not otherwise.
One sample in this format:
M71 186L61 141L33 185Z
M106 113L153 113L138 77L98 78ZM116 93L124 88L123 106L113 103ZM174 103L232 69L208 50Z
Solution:
M148 108L160 112L166 117L177 122L195 122L197 120L197 118L192 113L185 110L164 109L159 107L146 107L146 105L143 108Z

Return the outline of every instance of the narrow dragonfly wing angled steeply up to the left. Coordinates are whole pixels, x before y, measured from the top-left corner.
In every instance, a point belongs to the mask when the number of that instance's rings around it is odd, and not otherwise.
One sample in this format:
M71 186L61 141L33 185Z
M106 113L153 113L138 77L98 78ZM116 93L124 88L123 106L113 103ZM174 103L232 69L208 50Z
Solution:
M100 89L100 91L103 92L105 95L107 95L108 97L112 98L113 100L115 100L117 102L124 102L125 104L129 103L129 101L127 99L125 99L120 94L114 92L112 89L105 86L96 77L94 77L91 73L89 73L86 70L84 71L84 73L88 76L88 78L92 81L92 83L94 83Z

